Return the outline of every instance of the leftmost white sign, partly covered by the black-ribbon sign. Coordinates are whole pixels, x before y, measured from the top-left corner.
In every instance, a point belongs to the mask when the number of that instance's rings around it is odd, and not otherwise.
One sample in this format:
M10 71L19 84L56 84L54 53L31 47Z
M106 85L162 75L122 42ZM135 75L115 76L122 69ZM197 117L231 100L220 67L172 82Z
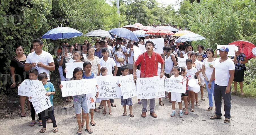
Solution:
M29 89L31 89L31 86L35 85L36 83L38 83L38 80L24 80L18 87L18 95L30 96Z

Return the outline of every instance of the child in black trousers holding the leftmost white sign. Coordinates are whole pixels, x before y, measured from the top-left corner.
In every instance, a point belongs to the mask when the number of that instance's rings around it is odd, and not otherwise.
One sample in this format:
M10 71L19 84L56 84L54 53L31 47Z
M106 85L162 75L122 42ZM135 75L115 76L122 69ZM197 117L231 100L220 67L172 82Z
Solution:
M37 80L37 76L38 76L38 70L37 69L31 69L30 71L29 71L29 79L30 80ZM37 80L38 81L38 80ZM32 98L32 97L29 97L30 99ZM34 107L33 107L33 104L32 104L32 102L30 102L29 101L29 104L30 104L30 106L31 106L31 119L32 119L32 122L29 124L29 126L31 126L31 127L33 127L34 125L35 125L35 114L36 114L36 111L35 111L35 109L34 109ZM43 126L43 123L42 123L42 119L41 119L41 114L40 113L38 113L38 119L39 119L39 126Z

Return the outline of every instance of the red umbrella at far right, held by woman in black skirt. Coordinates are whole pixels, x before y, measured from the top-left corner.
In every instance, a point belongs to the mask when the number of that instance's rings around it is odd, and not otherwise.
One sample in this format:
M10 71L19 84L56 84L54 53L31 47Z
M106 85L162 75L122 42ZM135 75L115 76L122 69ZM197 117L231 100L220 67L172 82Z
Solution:
M238 46L240 48L240 53L244 53L248 60L254 57L253 53L251 52L251 50L255 48L255 45L253 43L239 40L229 44L235 44L236 46Z

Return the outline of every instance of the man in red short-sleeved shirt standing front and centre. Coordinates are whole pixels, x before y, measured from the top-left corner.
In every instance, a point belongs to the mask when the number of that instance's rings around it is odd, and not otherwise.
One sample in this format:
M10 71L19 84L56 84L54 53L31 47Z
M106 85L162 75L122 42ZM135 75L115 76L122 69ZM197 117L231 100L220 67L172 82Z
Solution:
M139 55L138 59L134 63L133 66L133 77L136 79L136 69L139 64L141 64L141 74L140 77L154 77L157 76L157 67L158 62L161 63L161 73L160 77L162 78L164 76L164 59L161 57L160 54L153 51L154 49L154 43L152 41L147 41L145 44L146 52ZM146 117L147 113L147 99L142 99L142 114L141 116L143 118ZM154 118L156 118L156 113L154 112L155 107L155 99L150 99L150 115Z

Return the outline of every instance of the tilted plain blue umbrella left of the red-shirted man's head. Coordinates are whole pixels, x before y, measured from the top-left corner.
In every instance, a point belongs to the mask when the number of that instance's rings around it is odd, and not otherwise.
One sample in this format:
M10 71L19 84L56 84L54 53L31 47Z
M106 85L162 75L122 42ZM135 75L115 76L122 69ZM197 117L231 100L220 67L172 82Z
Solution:
M109 33L113 35L117 35L118 37L123 37L132 41L139 41L139 39L136 37L132 31L126 29L126 28L114 28L112 30L109 30Z

